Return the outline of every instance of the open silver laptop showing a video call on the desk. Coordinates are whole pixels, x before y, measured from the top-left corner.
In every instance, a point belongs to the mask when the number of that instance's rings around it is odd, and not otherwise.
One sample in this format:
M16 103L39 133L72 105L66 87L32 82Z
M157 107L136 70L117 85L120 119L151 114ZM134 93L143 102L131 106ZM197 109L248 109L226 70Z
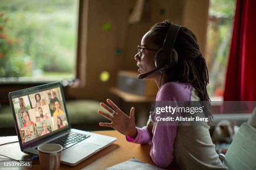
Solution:
M64 149L61 163L74 166L116 140L71 128L60 82L10 92L9 100L24 153L38 154L39 145L57 143Z

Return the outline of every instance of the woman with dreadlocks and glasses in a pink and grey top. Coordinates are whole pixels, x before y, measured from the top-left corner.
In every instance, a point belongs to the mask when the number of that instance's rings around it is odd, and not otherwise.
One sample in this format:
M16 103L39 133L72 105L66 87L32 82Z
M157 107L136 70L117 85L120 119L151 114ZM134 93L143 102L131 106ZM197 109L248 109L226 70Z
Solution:
M156 52L163 47L166 34L171 21L166 20L155 24L142 38L135 55L139 73L154 69ZM159 90L156 101L210 101L206 86L209 82L206 62L202 56L195 35L187 28L180 27L174 42L174 52L177 63L164 73L156 72L146 78L154 78ZM126 136L129 142L150 144L150 156L154 163L161 168L177 165L180 169L214 169L222 170L221 161L215 152L209 133L209 126L177 126L157 125L154 117L149 119L143 128L135 125L134 110L132 107L130 117L122 112L110 99L100 103L110 112L110 115L98 113L111 123L102 123L100 126L112 127ZM205 117L212 119L210 112Z

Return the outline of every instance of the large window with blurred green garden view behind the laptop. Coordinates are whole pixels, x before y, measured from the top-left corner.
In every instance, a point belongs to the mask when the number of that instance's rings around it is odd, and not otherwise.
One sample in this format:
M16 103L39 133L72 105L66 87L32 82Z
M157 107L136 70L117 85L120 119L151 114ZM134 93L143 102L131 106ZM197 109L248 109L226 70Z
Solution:
M78 0L1 0L0 82L73 80Z

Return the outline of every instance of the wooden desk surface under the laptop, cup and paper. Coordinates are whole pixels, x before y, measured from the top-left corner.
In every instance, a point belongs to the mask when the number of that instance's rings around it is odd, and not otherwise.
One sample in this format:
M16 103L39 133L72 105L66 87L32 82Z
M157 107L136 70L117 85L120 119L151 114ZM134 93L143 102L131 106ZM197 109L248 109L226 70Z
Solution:
M116 130L107 131L95 131L102 135L113 136L117 138L115 143L103 149L99 153L92 155L92 157L84 160L76 166L68 166L61 164L61 170L104 170L110 166L122 163L130 158L134 157L144 163L155 165L150 158L149 150L150 145L138 145L129 143L126 141L125 136L118 133ZM0 137L0 144L18 140L17 136ZM17 160L28 159L30 156L20 151L19 143L13 143L0 146L0 154L6 155ZM0 156L0 158L2 158ZM1 159L2 160L2 159ZM34 160L33 163L39 163L39 160ZM32 169L40 169L40 165L32 165ZM27 168L31 170L31 168ZM175 170L177 168L168 168L169 170Z

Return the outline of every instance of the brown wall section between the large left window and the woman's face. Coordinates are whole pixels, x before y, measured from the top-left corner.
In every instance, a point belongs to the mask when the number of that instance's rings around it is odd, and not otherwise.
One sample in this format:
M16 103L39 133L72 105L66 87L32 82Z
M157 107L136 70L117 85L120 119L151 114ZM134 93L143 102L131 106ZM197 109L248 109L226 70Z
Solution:
M87 32L81 37L81 48L85 51L81 52L79 57L86 58L85 84L70 87L67 95L70 98L104 100L108 96L109 87L116 85L117 70L123 67L125 54L122 52L121 55L116 56L115 49L117 47L124 49L129 11L135 1L85 0L84 2L84 9L88 10L85 13L88 18L81 29ZM102 30L105 23L111 24L110 30ZM102 71L110 73L108 82L100 81Z

